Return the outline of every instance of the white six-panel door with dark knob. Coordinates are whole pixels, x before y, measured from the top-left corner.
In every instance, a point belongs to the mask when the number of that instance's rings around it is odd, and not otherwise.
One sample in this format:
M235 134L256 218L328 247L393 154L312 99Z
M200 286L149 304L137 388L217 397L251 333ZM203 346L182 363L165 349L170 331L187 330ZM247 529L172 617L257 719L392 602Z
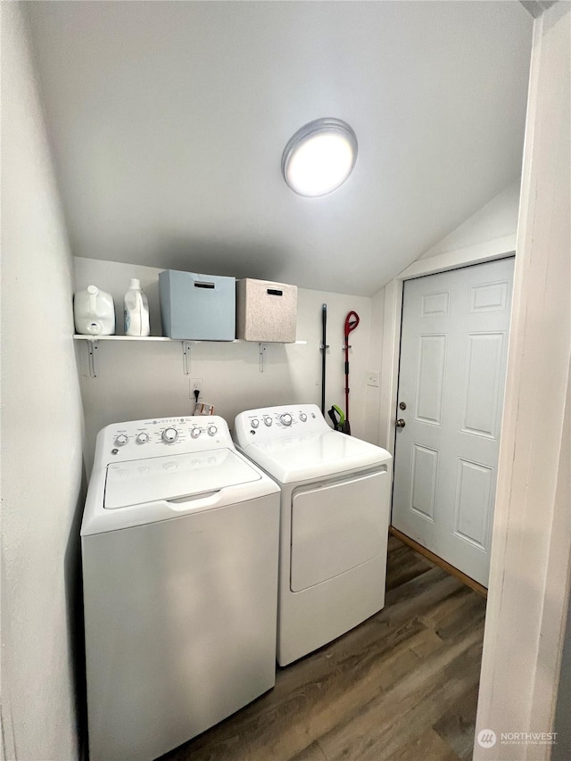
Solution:
M513 263L418 277L403 292L392 523L484 586Z

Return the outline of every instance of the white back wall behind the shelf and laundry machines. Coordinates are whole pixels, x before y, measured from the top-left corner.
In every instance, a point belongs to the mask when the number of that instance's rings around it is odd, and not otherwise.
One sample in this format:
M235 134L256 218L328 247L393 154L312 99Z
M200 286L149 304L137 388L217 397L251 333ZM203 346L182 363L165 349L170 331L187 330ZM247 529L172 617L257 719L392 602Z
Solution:
M190 269L190 268L189 268ZM130 277L139 277L149 298L151 332L161 335L158 277L161 269L121 262L75 259L77 290L97 285L113 295L118 316ZM95 436L106 425L120 420L190 415L194 396L191 378L203 379L201 401L214 404L215 413L233 426L243 409L265 405L321 400L321 308L327 303L327 409L338 404L344 409L343 325L350 310L360 316L359 327L351 335L352 434L377 442L378 389L366 385L367 370L379 369L375 354L368 368L371 299L366 296L298 291L297 339L305 345L265 344L266 368L259 370L258 343L194 343L190 376L183 373L180 342L100 342L100 374L89 375L87 345L77 342L86 433L87 468L91 469ZM122 319L118 332L122 333ZM377 328L378 329L378 328ZM192 398L192 401L191 401ZM327 418L328 420L329 418ZM375 424L372 425L372 421Z

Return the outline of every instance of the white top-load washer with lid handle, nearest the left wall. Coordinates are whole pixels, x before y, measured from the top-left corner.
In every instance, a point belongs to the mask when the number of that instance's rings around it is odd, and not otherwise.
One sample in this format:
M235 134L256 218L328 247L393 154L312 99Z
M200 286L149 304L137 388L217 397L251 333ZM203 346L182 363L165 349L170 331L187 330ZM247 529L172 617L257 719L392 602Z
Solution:
M91 761L161 756L275 683L279 489L222 418L103 428L81 527Z

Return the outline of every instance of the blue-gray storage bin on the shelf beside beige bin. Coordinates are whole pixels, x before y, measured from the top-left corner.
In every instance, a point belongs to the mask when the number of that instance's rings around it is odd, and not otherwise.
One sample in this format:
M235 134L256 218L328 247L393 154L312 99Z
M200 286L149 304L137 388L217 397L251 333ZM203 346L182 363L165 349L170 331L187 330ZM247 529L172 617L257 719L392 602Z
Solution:
M236 278L165 269L159 275L163 335L234 341Z

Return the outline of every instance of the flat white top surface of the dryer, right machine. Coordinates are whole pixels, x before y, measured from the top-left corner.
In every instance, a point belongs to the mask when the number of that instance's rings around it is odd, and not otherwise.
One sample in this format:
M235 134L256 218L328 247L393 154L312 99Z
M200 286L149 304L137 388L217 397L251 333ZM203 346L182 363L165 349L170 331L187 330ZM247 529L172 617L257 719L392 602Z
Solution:
M281 484L292 484L375 467L392 459L390 452L338 431L280 438L244 447L244 454Z

